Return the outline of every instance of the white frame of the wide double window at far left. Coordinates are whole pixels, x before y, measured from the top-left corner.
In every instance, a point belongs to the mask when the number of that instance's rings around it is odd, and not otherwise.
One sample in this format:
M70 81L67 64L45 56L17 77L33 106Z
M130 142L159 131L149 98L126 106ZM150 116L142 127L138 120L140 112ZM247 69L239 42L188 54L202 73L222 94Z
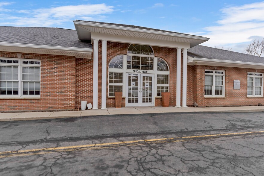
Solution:
M40 98L41 95L41 62L37 59L17 59L10 57L0 57L3 60L18 60L18 63L0 63L0 66L18 66L18 95L0 95L1 98ZM34 61L40 62L40 64L23 64L23 61ZM23 85L22 85L22 67L39 67L40 68L40 95L23 95ZM24 81L25 82L25 81ZM1 84L1 83L0 83Z

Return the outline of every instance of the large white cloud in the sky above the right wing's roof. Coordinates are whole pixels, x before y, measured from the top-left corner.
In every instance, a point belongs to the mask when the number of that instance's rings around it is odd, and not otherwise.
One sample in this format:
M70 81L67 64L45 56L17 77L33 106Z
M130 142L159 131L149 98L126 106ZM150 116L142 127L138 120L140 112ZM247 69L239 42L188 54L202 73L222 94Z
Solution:
M222 19L215 26L204 28L203 34L210 38L203 45L230 47L233 51L243 52L245 43L254 37L264 37L264 1L242 6L221 9Z

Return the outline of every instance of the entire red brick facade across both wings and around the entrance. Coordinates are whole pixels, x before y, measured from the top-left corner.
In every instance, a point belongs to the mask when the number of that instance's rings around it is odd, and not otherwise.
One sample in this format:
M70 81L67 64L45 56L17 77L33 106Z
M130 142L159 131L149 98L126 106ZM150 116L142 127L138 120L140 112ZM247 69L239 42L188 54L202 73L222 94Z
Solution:
M126 54L129 44L107 42L107 107L114 107L114 98L108 98L108 65L119 54ZM153 47L156 57L161 57L170 69L170 106L176 105L176 55L174 48ZM93 56L93 55L92 55ZM0 57L17 58L16 53L0 51ZM81 100L92 103L93 58L22 53L21 58L41 60L40 99L0 99L0 110L70 110L81 106ZM101 108L101 41L98 53L98 108ZM182 67L182 66L181 66ZM181 68L182 69L182 68ZM195 101L202 106L231 106L264 104L264 98L247 98L247 72L264 72L258 69L216 67L225 70L225 97L204 98L204 70L214 66L187 66L187 105ZM125 76L125 75L124 75ZM182 77L182 73L181 73ZM233 81L241 81L241 89L233 89ZM124 83L125 84L125 83ZM182 80L181 80L182 87ZM181 88L182 100L182 88ZM161 98L155 98L161 106ZM125 98L122 98L125 107Z

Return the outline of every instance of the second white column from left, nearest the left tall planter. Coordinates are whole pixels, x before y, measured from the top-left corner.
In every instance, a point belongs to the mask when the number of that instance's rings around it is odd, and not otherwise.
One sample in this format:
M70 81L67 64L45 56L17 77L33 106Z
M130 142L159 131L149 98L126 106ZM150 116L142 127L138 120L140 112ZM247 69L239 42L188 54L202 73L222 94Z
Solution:
M101 109L106 109L106 54L107 40L102 40L102 106Z

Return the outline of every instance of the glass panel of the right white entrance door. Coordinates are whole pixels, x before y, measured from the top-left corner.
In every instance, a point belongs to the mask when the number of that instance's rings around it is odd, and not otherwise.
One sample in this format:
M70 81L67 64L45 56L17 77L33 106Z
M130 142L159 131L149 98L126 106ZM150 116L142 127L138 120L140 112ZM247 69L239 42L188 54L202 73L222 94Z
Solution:
M152 77L142 77L142 103L152 102Z

